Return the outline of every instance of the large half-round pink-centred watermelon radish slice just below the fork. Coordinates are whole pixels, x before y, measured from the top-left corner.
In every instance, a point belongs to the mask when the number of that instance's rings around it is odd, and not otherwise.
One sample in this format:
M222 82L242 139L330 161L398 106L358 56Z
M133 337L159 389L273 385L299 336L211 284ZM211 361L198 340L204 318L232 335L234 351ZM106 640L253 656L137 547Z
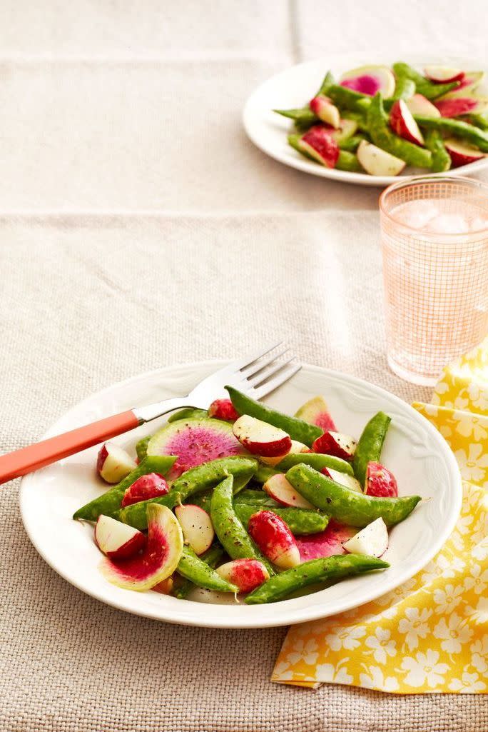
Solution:
M189 468L231 455L247 455L234 436L232 425L220 419L185 419L171 422L151 437L148 455L178 455L166 476L175 480Z

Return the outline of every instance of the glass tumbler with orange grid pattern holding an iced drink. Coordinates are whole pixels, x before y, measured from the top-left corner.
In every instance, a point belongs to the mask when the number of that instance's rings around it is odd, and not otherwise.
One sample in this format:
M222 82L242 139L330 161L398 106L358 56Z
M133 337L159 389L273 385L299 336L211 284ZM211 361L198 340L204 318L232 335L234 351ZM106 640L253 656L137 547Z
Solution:
M435 234L395 217L408 201L479 218L473 231ZM406 381L433 386L488 332L488 186L448 176L395 183L380 196L380 218L388 365Z

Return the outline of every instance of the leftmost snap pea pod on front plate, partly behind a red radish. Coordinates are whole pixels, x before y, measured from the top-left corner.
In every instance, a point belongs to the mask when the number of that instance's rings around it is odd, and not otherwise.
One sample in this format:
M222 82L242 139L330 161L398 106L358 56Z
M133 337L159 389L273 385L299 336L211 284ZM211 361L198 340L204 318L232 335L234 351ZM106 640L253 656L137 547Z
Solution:
M96 521L100 514L104 514L105 516L114 516L120 508L124 493L132 483L148 473L160 473L164 475L168 472L175 460L176 455L151 455L149 458L144 458L137 468L134 468L134 470L129 473L127 478L124 478L120 483L114 485L113 488L107 490L102 494L102 496L94 498L93 501L90 501L85 506L79 508L78 511L73 514L73 518L80 518L85 521ZM144 507L144 514L146 514L146 507Z

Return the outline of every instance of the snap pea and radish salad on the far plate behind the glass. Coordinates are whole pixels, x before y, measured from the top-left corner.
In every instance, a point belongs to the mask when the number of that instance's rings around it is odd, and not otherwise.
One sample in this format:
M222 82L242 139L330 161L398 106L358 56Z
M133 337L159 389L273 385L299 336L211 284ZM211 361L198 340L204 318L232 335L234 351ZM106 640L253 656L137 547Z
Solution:
M442 173L488 154L488 96L482 71L439 65L423 73L399 61L327 72L293 120L288 143L339 171L397 176L406 166Z

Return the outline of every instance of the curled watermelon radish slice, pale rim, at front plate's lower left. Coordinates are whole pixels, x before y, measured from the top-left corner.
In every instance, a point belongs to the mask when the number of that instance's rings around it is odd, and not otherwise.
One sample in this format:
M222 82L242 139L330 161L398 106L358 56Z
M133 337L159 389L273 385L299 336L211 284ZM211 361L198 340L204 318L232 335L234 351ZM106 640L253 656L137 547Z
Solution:
M170 509L149 504L148 538L143 553L132 559L104 559L100 571L105 579L123 589L150 590L175 571L183 550L183 534Z

